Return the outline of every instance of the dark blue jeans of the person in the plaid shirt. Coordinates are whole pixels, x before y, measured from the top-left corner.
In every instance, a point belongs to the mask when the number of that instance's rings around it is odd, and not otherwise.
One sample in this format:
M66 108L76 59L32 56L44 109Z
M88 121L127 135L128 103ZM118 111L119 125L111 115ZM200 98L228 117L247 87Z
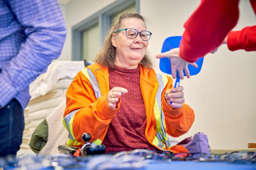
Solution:
M24 114L20 103L12 99L0 109L0 157L16 156L22 142Z

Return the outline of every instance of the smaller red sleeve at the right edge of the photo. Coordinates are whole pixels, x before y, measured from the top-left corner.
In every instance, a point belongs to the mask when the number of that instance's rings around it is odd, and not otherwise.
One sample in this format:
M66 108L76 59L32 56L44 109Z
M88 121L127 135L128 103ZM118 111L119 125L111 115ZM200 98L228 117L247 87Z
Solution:
M247 26L241 31L231 31L227 36L227 47L230 51L239 49L256 51L256 26Z

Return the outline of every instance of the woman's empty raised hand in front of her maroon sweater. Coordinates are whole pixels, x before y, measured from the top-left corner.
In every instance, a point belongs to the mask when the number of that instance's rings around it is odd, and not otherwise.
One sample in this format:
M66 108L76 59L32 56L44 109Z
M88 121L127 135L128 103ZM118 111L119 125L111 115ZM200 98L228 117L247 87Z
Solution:
M128 91L125 88L114 87L107 96L108 107L111 109L116 108L116 103L119 101L119 97L126 94Z

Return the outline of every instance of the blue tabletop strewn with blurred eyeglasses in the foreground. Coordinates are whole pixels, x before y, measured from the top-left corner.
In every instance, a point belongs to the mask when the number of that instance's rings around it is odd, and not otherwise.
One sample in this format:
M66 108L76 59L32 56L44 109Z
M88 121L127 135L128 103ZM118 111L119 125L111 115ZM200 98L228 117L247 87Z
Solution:
M108 170L110 170L111 168L114 170L122 170L122 168L124 167L125 170L129 170L129 168L132 169L132 167L140 167L137 170L256 170L255 161L240 161L240 163L238 163L228 161L179 161L171 159L143 160L140 159L140 157L138 156L127 156L128 157L123 156L122 159L116 159L116 157L113 158L111 155L97 155L92 157L79 158L65 154L60 154L58 156L27 156L24 157L23 159L19 159L16 164L17 166L15 165L12 167L4 167L3 169L22 170L23 168L20 167L20 165L23 165L23 167L25 167L26 170L57 170L57 167L61 168L59 170L97 170L99 167L104 170L106 170L106 168ZM47 162L48 164L45 164ZM108 166L109 163L112 165ZM1 164L5 165L3 164L3 160L1 161L0 159L0 170Z

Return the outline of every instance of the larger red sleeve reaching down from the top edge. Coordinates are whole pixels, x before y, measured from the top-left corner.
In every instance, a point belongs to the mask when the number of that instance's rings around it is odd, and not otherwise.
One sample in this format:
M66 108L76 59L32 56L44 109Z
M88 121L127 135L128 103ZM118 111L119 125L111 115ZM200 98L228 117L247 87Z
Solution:
M184 24L180 57L188 62L217 48L239 17L239 0L202 0Z

